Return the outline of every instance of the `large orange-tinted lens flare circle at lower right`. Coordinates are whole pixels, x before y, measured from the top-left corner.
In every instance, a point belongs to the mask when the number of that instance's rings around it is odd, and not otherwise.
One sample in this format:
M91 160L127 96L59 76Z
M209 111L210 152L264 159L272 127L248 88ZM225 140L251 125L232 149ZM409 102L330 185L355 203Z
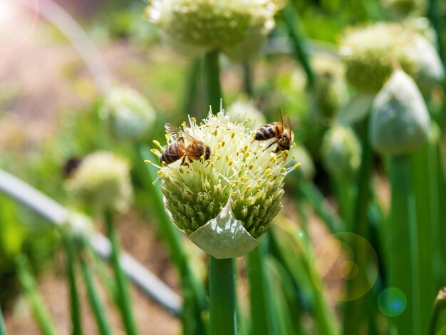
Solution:
M330 234L314 246L310 274L326 297L352 301L363 297L375 284L378 257L367 239L358 234Z

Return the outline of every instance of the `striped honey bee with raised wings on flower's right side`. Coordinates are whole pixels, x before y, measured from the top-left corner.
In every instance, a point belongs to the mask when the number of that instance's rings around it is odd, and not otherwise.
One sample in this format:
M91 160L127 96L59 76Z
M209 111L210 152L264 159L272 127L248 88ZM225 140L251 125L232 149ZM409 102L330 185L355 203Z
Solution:
M280 110L281 122L273 122L264 125L257 130L254 140L269 140L270 138L276 138L274 142L268 145L266 149L271 147L274 143L277 143L274 153L279 153L282 150L289 150L291 143L293 142L293 132L291 131L291 121L289 116L284 114Z

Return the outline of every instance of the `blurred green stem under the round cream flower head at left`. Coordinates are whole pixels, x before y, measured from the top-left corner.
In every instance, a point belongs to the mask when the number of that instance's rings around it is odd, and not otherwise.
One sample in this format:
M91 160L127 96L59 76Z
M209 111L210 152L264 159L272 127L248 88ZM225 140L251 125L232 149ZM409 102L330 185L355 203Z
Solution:
M113 271L115 272L116 286L118 288L118 299L120 302L119 309L121 318L123 319L123 324L125 331L128 335L136 335L136 325L133 319L132 306L130 304L130 294L128 292L128 281L125 277L123 269L119 262L119 244L118 238L115 234L115 228L113 225L113 215L109 210L104 213L105 226L107 229L108 239L110 239L111 244L111 262L113 266Z

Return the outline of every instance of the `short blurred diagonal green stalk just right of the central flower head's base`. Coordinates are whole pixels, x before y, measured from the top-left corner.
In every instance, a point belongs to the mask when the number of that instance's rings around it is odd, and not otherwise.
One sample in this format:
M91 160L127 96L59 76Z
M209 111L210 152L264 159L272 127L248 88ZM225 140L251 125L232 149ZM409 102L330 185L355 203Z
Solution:
M321 217L332 234L346 230L345 223L331 210L321 191L313 182L302 182L299 185L299 192L308 200L318 217Z

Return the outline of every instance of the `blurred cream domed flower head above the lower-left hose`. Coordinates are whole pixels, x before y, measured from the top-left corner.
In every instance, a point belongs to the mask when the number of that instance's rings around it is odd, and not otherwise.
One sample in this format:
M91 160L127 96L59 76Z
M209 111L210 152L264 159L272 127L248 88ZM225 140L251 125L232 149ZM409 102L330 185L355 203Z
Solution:
M70 195L94 209L127 210L133 197L128 162L113 153L85 157L66 182Z

